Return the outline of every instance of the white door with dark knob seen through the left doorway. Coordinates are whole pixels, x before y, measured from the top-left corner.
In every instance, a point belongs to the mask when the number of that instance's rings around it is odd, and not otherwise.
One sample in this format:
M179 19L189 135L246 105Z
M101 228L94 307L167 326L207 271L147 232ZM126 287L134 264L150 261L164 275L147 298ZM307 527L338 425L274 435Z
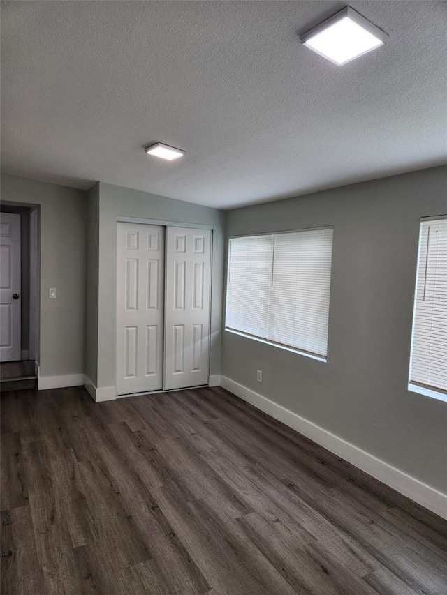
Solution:
M0 361L20 360L20 215L0 213Z

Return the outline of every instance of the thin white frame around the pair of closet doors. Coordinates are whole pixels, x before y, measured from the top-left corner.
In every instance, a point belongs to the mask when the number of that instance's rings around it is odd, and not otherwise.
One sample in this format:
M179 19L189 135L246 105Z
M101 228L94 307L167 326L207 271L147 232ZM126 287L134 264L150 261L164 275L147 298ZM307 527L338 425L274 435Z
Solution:
M162 225L165 228L166 227L184 227L185 229L210 229L211 231L211 254L210 254L210 318L209 318L209 324L210 324L210 345L208 347L209 349L209 353L208 353L208 382L210 382L210 364L211 364L211 313L212 313L212 271L213 271L213 239L214 239L214 225L209 225L207 223L185 223L182 221L168 221L165 219L146 219L146 218L142 218L142 217L127 217L127 216L118 216L117 217L117 229L118 229L118 223L142 223L143 225ZM165 250L166 250L166 231L165 231ZM115 234L115 237L117 238L117 233ZM166 267L166 263L165 263L165 267ZM117 283L117 287L116 287L116 292L117 292L117 305L118 305L118 283ZM166 296L166 275L165 275L165 279L164 279L164 294ZM115 313L115 328L117 328L117 319L118 319L118 311L116 310ZM166 316L164 316L163 319L163 329L164 329L164 333L166 335ZM115 333L115 354L117 354L117 333ZM164 347L163 347L163 360L164 360ZM164 361L163 361L163 366L164 366ZM170 393L173 391L180 391L182 389L161 389L159 391L142 391L141 393L127 393L125 395L119 395L116 391L116 386L117 386L117 364L116 364L116 355L115 355L115 393L117 395L117 399L122 399L122 398L126 398L126 397L134 397L134 396L142 396L142 395L152 395L152 394L157 394L157 393ZM164 369L163 369L163 385L164 385ZM203 384L200 386L208 386L208 384ZM189 386L188 388L194 388Z

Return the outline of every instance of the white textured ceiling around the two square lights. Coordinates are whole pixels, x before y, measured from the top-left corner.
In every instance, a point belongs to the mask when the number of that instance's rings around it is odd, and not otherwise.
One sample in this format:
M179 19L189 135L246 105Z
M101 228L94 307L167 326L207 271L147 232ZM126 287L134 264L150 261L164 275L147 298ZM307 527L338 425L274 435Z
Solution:
M447 3L351 2L390 37L338 68L298 33L344 6L2 2L2 169L229 208L446 163Z

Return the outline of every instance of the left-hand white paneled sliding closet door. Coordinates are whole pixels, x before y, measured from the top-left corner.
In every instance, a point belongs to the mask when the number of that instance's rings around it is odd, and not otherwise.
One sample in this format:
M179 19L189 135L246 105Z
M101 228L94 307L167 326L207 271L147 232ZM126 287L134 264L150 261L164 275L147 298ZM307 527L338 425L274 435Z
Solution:
M164 253L164 227L118 223L118 395L163 388Z

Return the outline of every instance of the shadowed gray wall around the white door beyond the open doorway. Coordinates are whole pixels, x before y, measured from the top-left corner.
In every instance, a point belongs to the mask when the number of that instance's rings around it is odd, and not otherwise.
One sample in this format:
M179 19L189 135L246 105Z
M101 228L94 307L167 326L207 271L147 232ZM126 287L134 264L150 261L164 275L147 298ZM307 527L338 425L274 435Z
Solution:
M29 349L29 212L26 206L0 204L3 213L20 215L20 347Z

